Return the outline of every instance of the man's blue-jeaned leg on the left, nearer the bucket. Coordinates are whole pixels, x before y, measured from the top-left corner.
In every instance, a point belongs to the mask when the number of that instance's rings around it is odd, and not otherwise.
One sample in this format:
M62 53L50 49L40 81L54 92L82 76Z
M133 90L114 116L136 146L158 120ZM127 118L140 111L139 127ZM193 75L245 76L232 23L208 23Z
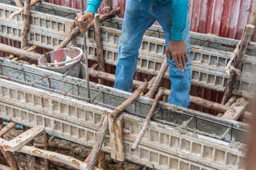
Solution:
M126 1L122 37L118 46L114 85L116 89L132 92L141 40L146 29L156 20L150 12L151 9L151 3L140 3L140 0Z

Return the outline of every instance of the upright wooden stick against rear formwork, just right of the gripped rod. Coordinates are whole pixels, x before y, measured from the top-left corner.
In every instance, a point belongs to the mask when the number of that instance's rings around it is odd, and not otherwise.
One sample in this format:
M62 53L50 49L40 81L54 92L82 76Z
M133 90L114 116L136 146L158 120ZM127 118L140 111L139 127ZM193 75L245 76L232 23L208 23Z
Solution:
M100 18L99 14L95 15L94 18L94 32L95 32L95 43L97 47L97 57L98 57L98 64L99 64L99 71L105 72L105 64L104 64L104 55L103 55L103 47L102 47L102 41L100 38ZM104 85L104 80L99 78L99 84Z

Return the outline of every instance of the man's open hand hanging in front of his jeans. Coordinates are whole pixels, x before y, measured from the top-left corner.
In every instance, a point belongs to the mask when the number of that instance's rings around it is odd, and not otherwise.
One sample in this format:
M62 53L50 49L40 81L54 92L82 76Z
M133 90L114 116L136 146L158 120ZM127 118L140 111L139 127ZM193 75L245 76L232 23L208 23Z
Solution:
M172 56L170 55L170 53L172 53ZM186 61L189 62L189 58L183 39L180 41L171 40L171 42L167 46L166 55L169 59L172 59L173 57L173 60L178 70L184 71L184 69L187 68Z

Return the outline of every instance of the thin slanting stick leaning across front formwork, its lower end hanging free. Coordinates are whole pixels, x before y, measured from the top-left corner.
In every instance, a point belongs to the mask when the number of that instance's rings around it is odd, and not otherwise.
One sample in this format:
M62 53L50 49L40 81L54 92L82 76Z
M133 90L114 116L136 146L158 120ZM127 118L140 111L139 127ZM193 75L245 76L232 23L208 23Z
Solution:
M154 99L154 102L148 112L147 118L145 119L144 125L141 128L140 134L138 135L138 137L136 138L136 140L134 141L134 143L131 146L131 150L135 151L138 148L138 145L140 144L141 139L143 138L145 131L148 127L148 124L150 122L150 119L152 118L152 115L154 113L154 111L156 110L156 105L160 99L160 97L163 95L164 92L164 88L160 87L157 94L156 94L156 98Z

